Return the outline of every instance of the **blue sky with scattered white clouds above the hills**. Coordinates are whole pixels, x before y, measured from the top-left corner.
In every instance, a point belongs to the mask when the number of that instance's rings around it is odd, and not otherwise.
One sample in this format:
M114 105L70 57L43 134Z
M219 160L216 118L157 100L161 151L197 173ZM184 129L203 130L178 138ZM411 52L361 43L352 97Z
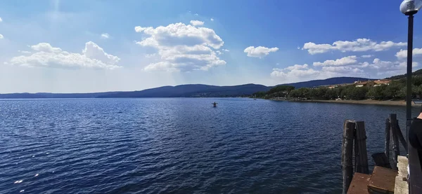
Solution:
M0 0L0 93L387 78L406 71L400 4ZM414 70L422 67L419 14Z

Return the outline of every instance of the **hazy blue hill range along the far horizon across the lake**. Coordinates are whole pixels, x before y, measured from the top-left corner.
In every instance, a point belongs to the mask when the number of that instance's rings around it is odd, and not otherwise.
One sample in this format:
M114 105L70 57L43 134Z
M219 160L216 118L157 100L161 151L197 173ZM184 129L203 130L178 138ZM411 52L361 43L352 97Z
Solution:
M368 78L328 78L325 80L286 83L295 88L312 88L320 85L335 85L340 83L354 83L354 81L367 81ZM112 98L112 97L241 97L252 95L255 92L267 92L272 86L245 84L233 86L216 86L203 84L188 84L176 86L163 86L132 92L96 92L96 93L13 93L0 94L0 99L30 99L30 98Z

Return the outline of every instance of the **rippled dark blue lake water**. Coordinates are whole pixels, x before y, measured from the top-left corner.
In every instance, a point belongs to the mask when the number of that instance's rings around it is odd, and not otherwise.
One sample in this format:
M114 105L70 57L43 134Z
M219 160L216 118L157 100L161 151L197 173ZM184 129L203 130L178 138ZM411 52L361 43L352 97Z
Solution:
M404 130L404 106L0 100L0 193L341 193L344 120L366 121L372 162L389 113Z

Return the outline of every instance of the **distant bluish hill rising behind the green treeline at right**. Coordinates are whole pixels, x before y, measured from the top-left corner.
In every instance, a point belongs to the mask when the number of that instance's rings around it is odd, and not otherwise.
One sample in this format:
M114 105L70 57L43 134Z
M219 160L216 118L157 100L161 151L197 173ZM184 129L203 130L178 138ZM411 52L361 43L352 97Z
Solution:
M324 80L302 81L298 83L284 83L281 85L292 85L292 86L295 86L295 88L313 88L313 87L321 86L321 85L336 85L336 84L341 84L341 83L354 83L355 81L369 81L369 80L378 80L378 79L337 77L337 78L328 78Z

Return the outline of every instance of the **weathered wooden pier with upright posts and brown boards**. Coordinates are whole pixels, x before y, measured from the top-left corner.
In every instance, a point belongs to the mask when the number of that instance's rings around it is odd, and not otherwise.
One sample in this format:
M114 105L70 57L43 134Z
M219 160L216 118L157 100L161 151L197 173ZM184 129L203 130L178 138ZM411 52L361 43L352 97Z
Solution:
M345 121L341 160L343 194L409 193L408 162L407 157L400 155L400 144L406 153L408 148L398 122L396 114L385 120L385 148L371 155L376 166L370 174L364 122Z

